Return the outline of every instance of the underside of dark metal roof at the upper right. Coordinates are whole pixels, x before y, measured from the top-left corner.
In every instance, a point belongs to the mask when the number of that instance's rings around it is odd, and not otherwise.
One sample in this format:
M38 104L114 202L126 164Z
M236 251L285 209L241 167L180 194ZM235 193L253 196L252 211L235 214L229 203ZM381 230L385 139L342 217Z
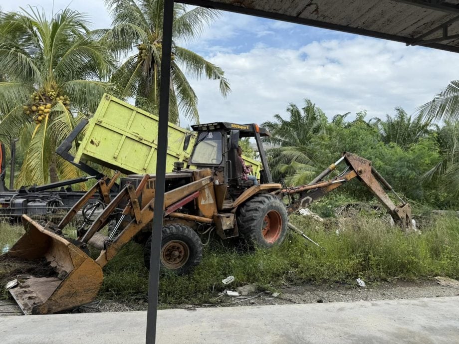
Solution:
M459 0L179 0L459 52Z

